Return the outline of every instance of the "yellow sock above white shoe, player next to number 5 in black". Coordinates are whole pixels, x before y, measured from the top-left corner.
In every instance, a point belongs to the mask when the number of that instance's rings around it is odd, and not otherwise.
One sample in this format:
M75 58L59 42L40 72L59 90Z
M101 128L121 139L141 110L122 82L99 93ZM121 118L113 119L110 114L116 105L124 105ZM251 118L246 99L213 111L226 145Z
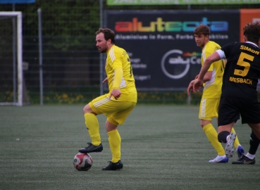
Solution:
M215 150L218 153L218 156L223 156L225 155L224 148L222 144L218 141L218 133L216 132L216 129L213 127L211 123L205 125L202 128L206 134L206 137L208 137L209 142L215 148Z

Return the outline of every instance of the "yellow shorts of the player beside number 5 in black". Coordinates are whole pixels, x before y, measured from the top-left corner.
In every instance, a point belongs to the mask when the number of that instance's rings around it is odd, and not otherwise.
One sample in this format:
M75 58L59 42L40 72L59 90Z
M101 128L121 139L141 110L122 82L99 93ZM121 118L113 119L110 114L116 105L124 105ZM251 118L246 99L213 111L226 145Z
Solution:
M218 106L221 99L203 99L199 107L199 119L209 120L218 118Z

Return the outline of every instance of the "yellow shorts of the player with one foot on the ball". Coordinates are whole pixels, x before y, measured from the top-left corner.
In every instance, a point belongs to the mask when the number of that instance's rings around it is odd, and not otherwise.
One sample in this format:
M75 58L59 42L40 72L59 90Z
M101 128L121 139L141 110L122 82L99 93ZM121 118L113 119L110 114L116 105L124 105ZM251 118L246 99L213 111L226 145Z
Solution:
M99 96L89 102L89 107L94 113L106 115L107 120L113 125L123 125L135 105L135 102L111 100L107 95Z

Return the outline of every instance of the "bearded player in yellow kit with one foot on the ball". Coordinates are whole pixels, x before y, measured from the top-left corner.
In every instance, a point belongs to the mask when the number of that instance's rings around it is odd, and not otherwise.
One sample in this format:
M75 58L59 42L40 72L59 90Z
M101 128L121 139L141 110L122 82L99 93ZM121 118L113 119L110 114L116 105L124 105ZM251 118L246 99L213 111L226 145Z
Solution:
M123 125L137 103L135 78L132 74L128 53L115 45L115 33L109 28L99 28L96 32L96 46L99 53L106 53L106 79L109 93L97 97L84 108L85 124L92 139L89 146L81 148L80 153L101 152L103 146L99 134L99 114L106 115L106 132L109 136L112 159L109 165L102 170L121 170L123 163L120 160L121 138L118 125Z

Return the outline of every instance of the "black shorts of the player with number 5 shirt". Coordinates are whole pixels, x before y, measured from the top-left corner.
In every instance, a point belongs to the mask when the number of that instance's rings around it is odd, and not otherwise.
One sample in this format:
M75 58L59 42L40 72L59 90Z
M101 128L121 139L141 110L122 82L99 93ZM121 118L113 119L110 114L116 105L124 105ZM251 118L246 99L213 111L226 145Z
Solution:
M242 124L260 123L260 103L257 99L242 99L235 96L221 96L218 108L218 126L228 125L242 118Z

